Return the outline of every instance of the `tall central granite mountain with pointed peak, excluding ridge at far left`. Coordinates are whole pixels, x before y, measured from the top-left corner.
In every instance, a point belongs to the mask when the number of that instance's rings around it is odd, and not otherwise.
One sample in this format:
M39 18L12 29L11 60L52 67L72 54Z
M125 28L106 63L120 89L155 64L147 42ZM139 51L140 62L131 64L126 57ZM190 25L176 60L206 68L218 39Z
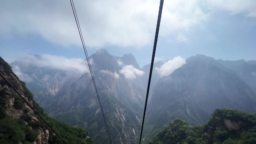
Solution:
M115 143L132 144L138 139L143 111L144 89L136 79L127 79L120 72L129 61L110 55L101 49L89 57L101 98L103 110ZM118 64L119 62L119 64ZM121 65L120 62L123 64ZM136 62L137 63L137 62ZM139 69L137 69L139 70ZM136 76L137 77L137 76ZM95 143L107 143L100 105L89 73L67 83L46 108L50 116L89 129ZM71 119L72 115L74 119Z

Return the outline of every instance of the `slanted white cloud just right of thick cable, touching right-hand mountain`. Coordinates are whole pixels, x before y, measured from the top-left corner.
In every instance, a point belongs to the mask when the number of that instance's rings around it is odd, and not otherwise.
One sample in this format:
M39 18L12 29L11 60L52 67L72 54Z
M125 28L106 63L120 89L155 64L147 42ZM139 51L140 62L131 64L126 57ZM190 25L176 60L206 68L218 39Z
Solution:
M186 60L181 56L176 56L165 62L161 67L155 68L155 70L161 77L169 76L174 70L181 67L183 64L186 64Z

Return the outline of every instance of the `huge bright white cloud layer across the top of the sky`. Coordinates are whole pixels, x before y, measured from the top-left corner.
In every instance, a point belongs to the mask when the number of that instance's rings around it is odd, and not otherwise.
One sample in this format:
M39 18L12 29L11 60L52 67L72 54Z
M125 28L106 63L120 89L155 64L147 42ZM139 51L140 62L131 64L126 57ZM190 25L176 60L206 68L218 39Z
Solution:
M152 43L159 1L74 1L83 38L90 47L143 46ZM256 16L255 0L166 0L159 37L186 42L188 33L212 11L228 10ZM207 10L205 10L207 9ZM0 36L38 34L59 45L81 46L68 0L7 0L0 5ZM180 35L182 34L182 35Z

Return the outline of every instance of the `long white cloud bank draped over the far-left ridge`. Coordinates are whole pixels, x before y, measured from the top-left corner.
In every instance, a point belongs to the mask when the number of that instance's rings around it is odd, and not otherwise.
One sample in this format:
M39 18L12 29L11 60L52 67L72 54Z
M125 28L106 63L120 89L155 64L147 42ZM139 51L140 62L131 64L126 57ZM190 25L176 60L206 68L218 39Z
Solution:
M73 74L83 74L89 71L86 61L81 58L65 58L64 56L45 54L40 56L27 55L20 61L37 67L55 68Z

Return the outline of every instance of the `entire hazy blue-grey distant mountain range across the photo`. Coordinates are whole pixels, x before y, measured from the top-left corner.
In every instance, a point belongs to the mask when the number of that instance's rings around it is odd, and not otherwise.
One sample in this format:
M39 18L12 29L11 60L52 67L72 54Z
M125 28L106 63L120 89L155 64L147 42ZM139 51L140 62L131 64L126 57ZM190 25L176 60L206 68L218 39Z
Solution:
M39 55L34 58L42 59ZM105 49L89 58L112 139L119 144L137 143L150 65L140 68L132 54L118 57ZM255 61L223 61L196 55L170 75L162 76L158 72L168 61L154 65L143 143L176 118L198 125L205 123L216 108L256 112ZM88 129L97 144L107 143L89 73L70 75L25 60L10 65L21 75L30 76L24 79L27 87L50 116Z

